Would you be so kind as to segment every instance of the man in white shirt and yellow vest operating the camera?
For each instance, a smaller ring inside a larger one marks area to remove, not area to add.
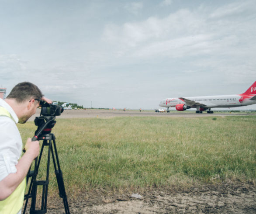
[[[5,100],[0,99],[0,214],[21,213],[26,175],[39,155],[39,142],[28,138],[21,157],[22,140],[16,124],[24,124],[39,107],[51,103],[32,83],[17,84]]]

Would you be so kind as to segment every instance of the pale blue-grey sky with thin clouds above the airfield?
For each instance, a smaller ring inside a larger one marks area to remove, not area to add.
[[[128,109],[239,94],[256,81],[255,26],[255,0],[0,0],[0,87]]]

